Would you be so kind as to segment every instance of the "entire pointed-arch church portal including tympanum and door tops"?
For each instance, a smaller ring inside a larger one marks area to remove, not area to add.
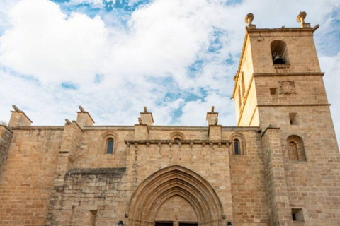
[[[220,198],[203,177],[179,165],[160,169],[132,195],[131,226],[222,226]]]

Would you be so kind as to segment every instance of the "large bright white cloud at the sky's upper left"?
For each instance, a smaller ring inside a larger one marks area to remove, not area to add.
[[[0,37],[2,66],[42,83],[94,79],[108,33],[101,18],[80,13],[67,18],[46,0],[20,1],[9,15],[13,28]]]

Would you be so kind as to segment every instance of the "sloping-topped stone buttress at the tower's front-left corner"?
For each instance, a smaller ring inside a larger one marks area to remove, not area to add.
[[[271,225],[292,225],[279,129],[268,127],[263,132],[262,145]]]

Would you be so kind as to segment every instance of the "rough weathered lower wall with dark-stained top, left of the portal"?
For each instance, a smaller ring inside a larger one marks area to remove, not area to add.
[[[51,203],[61,205],[62,213],[51,225],[116,225],[125,210],[125,191],[119,186],[124,173],[125,168],[67,172],[62,199]]]

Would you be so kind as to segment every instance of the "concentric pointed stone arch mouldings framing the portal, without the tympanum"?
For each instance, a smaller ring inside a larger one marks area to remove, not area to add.
[[[199,174],[179,165],[160,169],[137,187],[126,211],[129,225],[153,226],[159,208],[174,196],[190,203],[199,225],[222,225],[225,215],[215,189]]]

